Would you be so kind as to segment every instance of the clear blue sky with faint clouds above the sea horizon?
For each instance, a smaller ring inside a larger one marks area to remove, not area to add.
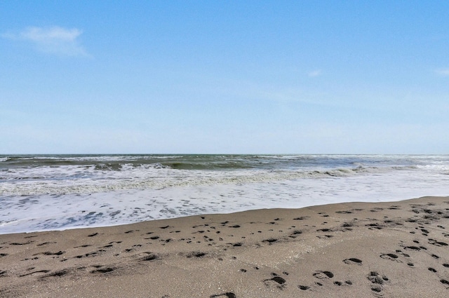
[[[0,154],[448,154],[448,13],[1,1]]]

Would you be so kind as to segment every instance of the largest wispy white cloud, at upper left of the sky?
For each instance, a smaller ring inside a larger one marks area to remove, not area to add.
[[[37,50],[55,55],[91,57],[79,42],[83,32],[79,29],[62,27],[27,27],[18,33],[8,32],[5,38],[27,41]]]

